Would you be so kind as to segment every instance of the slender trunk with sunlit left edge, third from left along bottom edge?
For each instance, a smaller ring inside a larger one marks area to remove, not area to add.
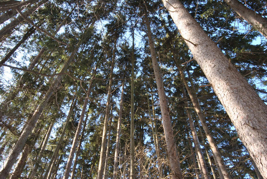
[[[55,120],[53,120],[48,128],[48,131],[46,133],[46,136],[45,136],[45,139],[42,143],[42,146],[41,146],[41,150],[40,150],[40,153],[39,155],[37,156],[37,159],[36,159],[36,164],[34,165],[34,168],[33,170],[31,171],[31,175],[30,175],[30,179],[33,179],[36,175],[36,172],[37,172],[37,169],[38,169],[38,166],[39,164],[41,163],[41,159],[42,159],[42,155],[45,151],[45,148],[46,148],[46,145],[47,145],[47,142],[48,142],[48,139],[50,137],[50,134],[51,134],[51,131],[53,129],[53,126],[54,126],[54,123],[55,123]]]

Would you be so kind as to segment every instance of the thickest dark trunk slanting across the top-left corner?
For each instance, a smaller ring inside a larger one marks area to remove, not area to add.
[[[31,13],[33,13],[34,11],[36,11],[39,6],[41,6],[42,4],[46,3],[48,0],[42,0],[39,3],[37,3],[36,5],[34,5],[33,7],[29,7],[24,13],[23,15],[28,17],[29,15],[31,15]],[[0,30],[0,42],[3,41],[3,39],[5,39],[4,36],[9,36],[12,31],[14,30],[14,28],[21,23],[22,21],[24,21],[24,19],[21,16],[18,16],[15,20],[12,20],[9,24],[7,24],[6,26],[4,26],[1,30]]]

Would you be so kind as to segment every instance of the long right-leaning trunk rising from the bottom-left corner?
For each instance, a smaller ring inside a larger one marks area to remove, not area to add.
[[[75,56],[76,52],[78,51],[78,49],[79,49],[81,44],[82,44],[82,39],[80,39],[80,41],[78,42],[77,46],[74,48],[73,52],[71,53],[71,55],[69,56],[67,61],[64,63],[64,65],[63,65],[63,67],[62,67],[62,69],[60,70],[59,73],[66,72],[69,64],[73,60],[73,58],[74,58],[74,56]],[[39,116],[43,112],[48,100],[50,99],[50,97],[54,93],[55,89],[57,89],[58,84],[61,81],[63,76],[64,75],[58,75],[55,78],[55,80],[53,81],[52,85],[48,89],[47,93],[45,94],[45,96],[40,101],[40,104],[36,108],[33,116],[25,124],[24,129],[23,129],[20,137],[18,138],[18,141],[16,142],[16,144],[14,145],[12,150],[10,151],[9,156],[7,157],[6,161],[4,162],[3,167],[0,170],[0,179],[5,179],[7,177],[8,173],[10,172],[13,164],[15,163],[15,160],[17,159],[20,151],[23,149],[28,136],[30,135],[32,129],[34,128],[35,123],[37,122]]]

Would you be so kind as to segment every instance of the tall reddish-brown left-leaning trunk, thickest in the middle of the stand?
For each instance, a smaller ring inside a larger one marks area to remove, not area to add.
[[[150,22],[148,21],[147,15],[145,15],[144,17],[145,17],[145,23],[147,26],[147,36],[149,39],[152,64],[153,64],[154,74],[155,74],[156,83],[158,87],[158,96],[160,100],[160,111],[161,111],[161,117],[162,117],[162,122],[163,122],[163,129],[164,129],[164,134],[165,134],[169,162],[171,166],[172,178],[182,179],[180,161],[177,155],[176,145],[174,142],[173,131],[171,127],[169,107],[167,105],[166,94],[164,92],[164,87],[163,87],[163,81],[162,81],[161,74],[160,74],[159,67],[158,67],[158,61],[157,61],[157,56],[155,52],[155,45],[154,45],[154,41],[152,38],[151,29],[150,29]]]

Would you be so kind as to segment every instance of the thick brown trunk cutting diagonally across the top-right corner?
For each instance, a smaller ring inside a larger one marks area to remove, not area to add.
[[[254,10],[247,8],[238,0],[224,0],[238,15],[250,23],[265,38],[267,38],[267,20]]]

